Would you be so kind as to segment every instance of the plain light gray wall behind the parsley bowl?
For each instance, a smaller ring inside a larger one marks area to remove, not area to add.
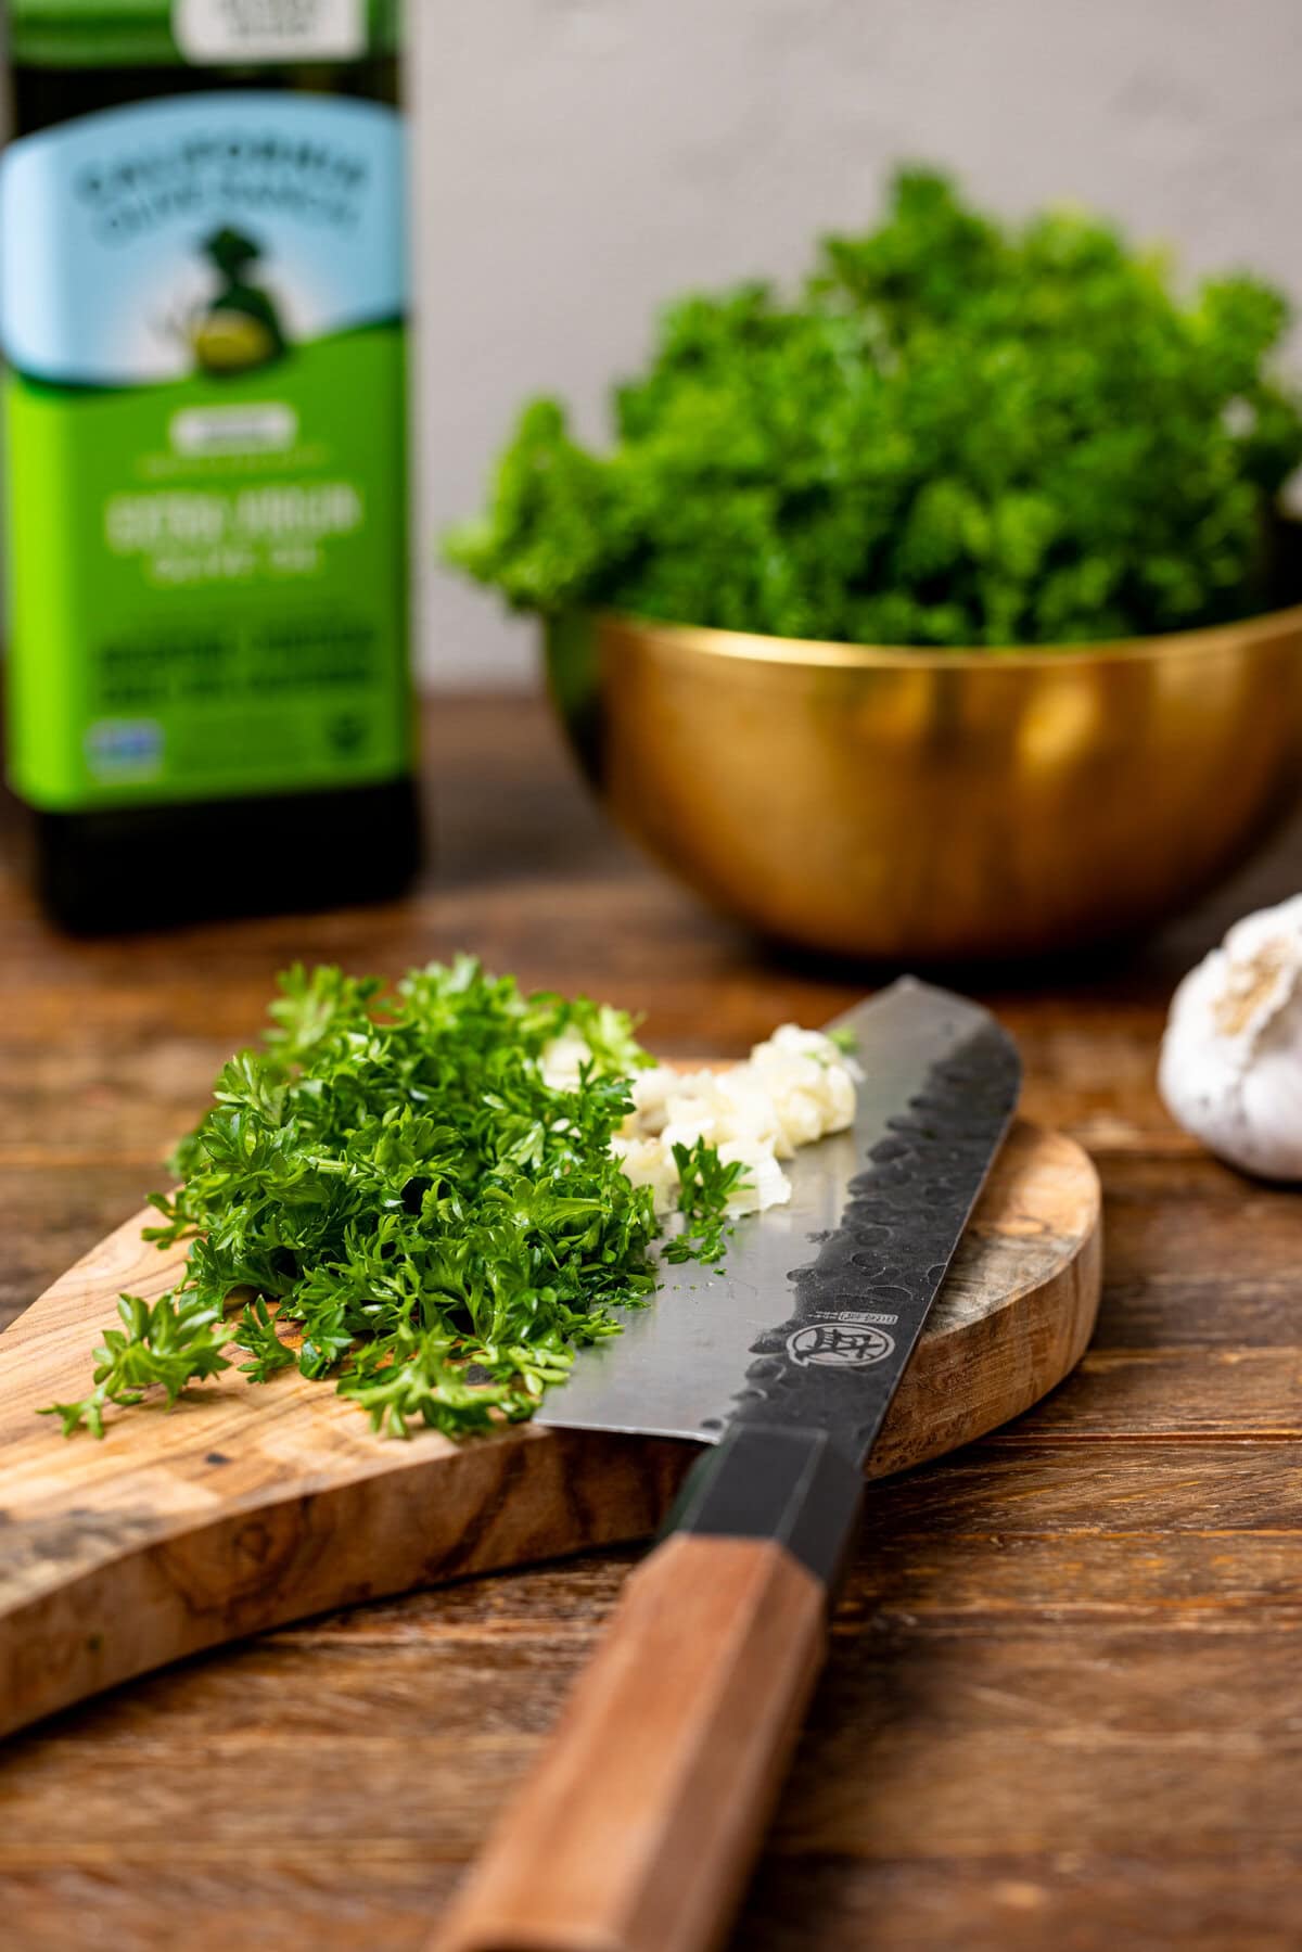
[[[410,0],[424,670],[513,683],[533,630],[433,566],[519,400],[588,437],[656,303],[791,275],[896,158],[1074,199],[1302,301],[1302,0]]]

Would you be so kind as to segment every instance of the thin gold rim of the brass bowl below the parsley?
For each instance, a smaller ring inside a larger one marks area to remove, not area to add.
[[[929,644],[839,644],[800,636],[763,636],[752,630],[718,630],[711,625],[660,623],[623,611],[595,611],[595,623],[634,636],[650,636],[668,648],[699,652],[707,658],[736,658],[750,664],[793,664],[826,670],[1009,670],[1019,666],[1138,664],[1152,658],[1206,656],[1220,650],[1269,644],[1302,634],[1302,603],[1288,609],[1257,611],[1238,623],[1204,625],[1199,630],[1163,630],[1152,636],[1113,638],[1097,644],[1009,644],[956,646]]]

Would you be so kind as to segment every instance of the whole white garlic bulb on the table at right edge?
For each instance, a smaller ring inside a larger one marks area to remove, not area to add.
[[[1222,1159],[1302,1179],[1302,894],[1245,915],[1185,976],[1158,1085]]]

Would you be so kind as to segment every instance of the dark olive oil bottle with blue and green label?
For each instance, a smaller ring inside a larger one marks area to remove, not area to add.
[[[396,892],[396,0],[10,0],[8,771],[66,927]]]

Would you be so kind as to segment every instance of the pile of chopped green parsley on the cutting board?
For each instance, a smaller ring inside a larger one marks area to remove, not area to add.
[[[531,1415],[576,1349],[617,1335],[656,1288],[652,1195],[609,1150],[650,1062],[631,1019],[525,996],[468,956],[396,992],[293,968],[271,1019],[180,1146],[180,1189],[152,1197],[146,1238],[189,1243],[182,1282],[152,1304],[125,1296],[90,1394],[45,1413],[100,1437],[109,1403],[160,1384],[172,1405],[234,1343],[250,1380],[297,1362],[396,1437]],[[574,1089],[539,1062],[564,1033],[593,1052]],[[679,1163],[668,1251],[712,1261],[742,1169],[703,1142]]]

